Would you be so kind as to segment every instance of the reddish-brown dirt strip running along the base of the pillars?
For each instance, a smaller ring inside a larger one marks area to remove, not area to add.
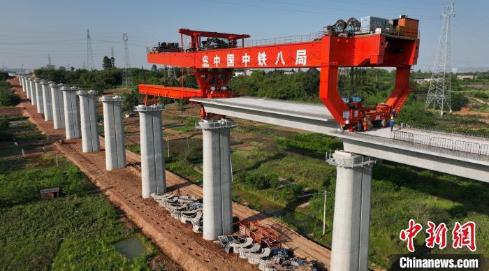
[[[173,219],[170,213],[152,199],[143,199],[141,195],[140,156],[126,150],[129,166],[121,170],[105,170],[105,152],[83,153],[81,139],[58,140],[65,138],[64,129],[54,129],[52,122],[44,121],[36,112],[36,106],[30,105],[25,93],[18,87],[17,79],[11,80],[15,92],[22,98],[18,107],[24,108],[23,115],[38,126],[54,147],[57,147],[70,161],[82,170],[98,189],[101,189],[110,202],[119,207],[133,221],[141,232],[149,237],[159,249],[186,270],[258,270],[256,265],[239,258],[236,254],[226,254],[214,242],[203,240],[199,233],[191,230],[191,225],[182,224]],[[101,147],[104,147],[101,137]],[[173,173],[166,171],[168,191],[189,194],[203,198],[202,187],[191,184]],[[307,258],[316,263],[321,270],[329,268],[330,250],[286,228],[272,217],[233,203],[233,215],[240,220],[260,221],[272,225],[282,238],[282,247],[292,249],[295,256]]]

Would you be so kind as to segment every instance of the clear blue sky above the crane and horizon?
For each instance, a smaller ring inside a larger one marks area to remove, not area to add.
[[[129,36],[131,66],[146,63],[146,46],[180,42],[179,28],[250,34],[251,39],[295,36],[320,31],[337,19],[365,15],[394,18],[407,14],[420,20],[418,65],[431,69],[441,31],[439,0],[2,0],[0,65],[37,68],[48,63],[81,68],[87,56],[87,29],[94,62],[101,68],[114,47],[116,66],[123,65],[122,33]],[[455,3],[452,20],[452,66],[489,69],[489,1]]]

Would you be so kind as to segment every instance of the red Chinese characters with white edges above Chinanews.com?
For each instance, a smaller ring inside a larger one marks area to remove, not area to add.
[[[423,226],[414,221],[414,219],[409,220],[409,228],[401,230],[399,237],[400,240],[407,242],[407,249],[414,252],[414,237],[423,230]],[[436,245],[439,249],[444,249],[446,247],[446,232],[448,228],[444,223],[440,223],[438,226],[432,221],[428,221],[428,228],[426,233],[428,233],[428,238],[425,239],[426,247],[434,248]],[[467,247],[470,251],[476,251],[476,224],[472,221],[460,225],[460,223],[455,222],[452,230],[452,247],[454,249],[460,249],[462,247]]]

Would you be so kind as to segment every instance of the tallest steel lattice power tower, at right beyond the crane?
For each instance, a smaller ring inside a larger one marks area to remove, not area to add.
[[[451,65],[450,65],[450,18],[455,16],[455,3],[444,3],[441,19],[443,27],[438,43],[437,57],[430,80],[430,89],[426,98],[425,107],[433,105],[443,116],[445,106],[452,112],[451,106]]]

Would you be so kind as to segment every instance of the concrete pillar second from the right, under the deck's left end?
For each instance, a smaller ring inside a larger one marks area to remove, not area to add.
[[[203,135],[203,236],[216,240],[233,231],[231,207],[231,150],[229,130],[233,121],[203,119],[198,123]]]

